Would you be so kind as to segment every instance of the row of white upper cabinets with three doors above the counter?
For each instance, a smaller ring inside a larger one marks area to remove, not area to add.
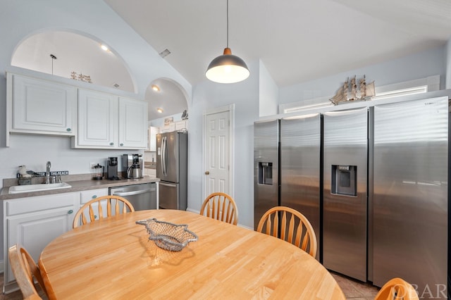
[[[7,73],[6,146],[10,133],[71,136],[73,148],[148,149],[147,101]]]

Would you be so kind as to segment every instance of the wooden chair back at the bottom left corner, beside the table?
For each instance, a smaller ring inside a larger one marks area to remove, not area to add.
[[[23,294],[23,298],[42,299],[35,288],[33,277],[36,278],[39,286],[48,296],[47,287],[44,285],[42,275],[30,254],[24,248],[16,244],[8,249],[8,256],[11,263],[11,270],[13,270],[14,277],[16,277],[16,282],[18,283],[20,292]]]

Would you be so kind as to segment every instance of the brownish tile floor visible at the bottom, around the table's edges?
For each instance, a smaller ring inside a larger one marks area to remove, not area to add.
[[[374,296],[379,291],[378,287],[373,287],[364,282],[359,282],[357,280],[353,280],[344,275],[340,275],[338,273],[330,272],[335,280],[340,285],[343,293],[346,296],[346,299],[352,300],[373,300]],[[0,287],[3,287],[3,273],[0,273]],[[39,294],[42,295],[42,292]],[[23,299],[20,291],[13,292],[7,295],[0,294],[0,300],[21,300]]]

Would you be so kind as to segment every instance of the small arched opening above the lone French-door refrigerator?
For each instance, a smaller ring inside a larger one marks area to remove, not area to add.
[[[188,111],[187,92],[171,78],[160,77],[150,82],[144,97],[149,102],[149,120],[166,118]],[[159,108],[162,110],[161,113],[157,111]]]

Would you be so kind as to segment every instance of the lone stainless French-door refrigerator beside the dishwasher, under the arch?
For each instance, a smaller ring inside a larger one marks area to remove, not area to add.
[[[159,182],[159,208],[187,208],[187,132],[156,135],[156,177]]]

